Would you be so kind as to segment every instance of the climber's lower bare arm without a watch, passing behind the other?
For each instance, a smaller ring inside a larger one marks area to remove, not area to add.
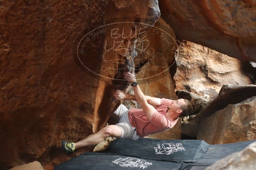
[[[136,100],[135,95],[129,95],[124,93],[122,90],[116,90],[113,94],[113,96],[117,99],[117,100]],[[151,96],[145,96],[147,103],[154,105],[154,106],[160,106],[161,103],[161,99],[157,98],[157,97],[151,97]]]

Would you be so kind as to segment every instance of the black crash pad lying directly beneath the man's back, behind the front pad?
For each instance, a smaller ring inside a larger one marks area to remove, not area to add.
[[[155,160],[195,162],[210,147],[203,140],[116,139],[106,151]]]

